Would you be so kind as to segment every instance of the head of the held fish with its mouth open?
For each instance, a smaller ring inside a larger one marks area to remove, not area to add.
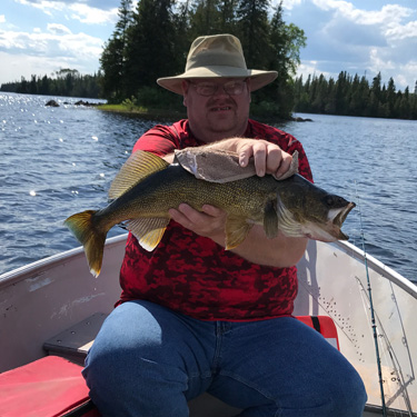
[[[297,181],[292,181],[287,192],[278,195],[278,208],[287,235],[321,241],[347,240],[349,237],[341,231],[341,226],[356,207],[355,202],[296,177]]]

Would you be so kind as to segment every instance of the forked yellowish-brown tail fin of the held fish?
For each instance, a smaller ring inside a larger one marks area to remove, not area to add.
[[[63,224],[83,246],[90,272],[97,278],[101,270],[108,229],[95,222],[95,210],[86,210],[70,216]]]

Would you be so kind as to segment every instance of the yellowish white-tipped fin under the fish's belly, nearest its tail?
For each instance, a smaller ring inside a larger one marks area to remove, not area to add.
[[[161,241],[168,224],[168,218],[155,217],[128,220],[126,226],[127,229],[138,239],[139,245],[143,249],[152,251]]]

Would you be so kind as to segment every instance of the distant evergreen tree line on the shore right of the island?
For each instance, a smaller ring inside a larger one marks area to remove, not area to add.
[[[408,87],[397,91],[393,78],[387,86],[381,83],[380,72],[371,83],[346,71],[337,80],[320,75],[304,81],[301,76],[295,80],[294,95],[294,109],[299,112],[417,119],[417,81],[413,92]]]

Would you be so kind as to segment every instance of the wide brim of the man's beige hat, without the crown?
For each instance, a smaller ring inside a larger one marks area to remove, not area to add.
[[[169,91],[182,96],[182,81],[192,78],[250,78],[250,91],[259,90],[260,88],[272,82],[277,77],[277,71],[261,71],[261,70],[246,70],[236,67],[214,66],[199,67],[191,69],[176,77],[158,78],[159,86]]]

